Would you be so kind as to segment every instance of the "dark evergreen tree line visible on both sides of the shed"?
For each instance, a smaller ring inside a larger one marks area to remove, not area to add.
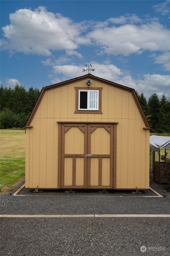
[[[39,97],[40,90],[16,84],[14,89],[0,87],[0,129],[23,127]],[[170,99],[153,93],[147,100],[136,92],[153,132],[170,133]]]

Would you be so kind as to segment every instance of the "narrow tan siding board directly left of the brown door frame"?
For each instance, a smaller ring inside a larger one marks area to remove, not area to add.
[[[58,187],[58,124],[53,123],[53,188]]]

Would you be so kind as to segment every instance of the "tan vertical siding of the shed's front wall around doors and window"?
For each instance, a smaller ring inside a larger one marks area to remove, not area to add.
[[[116,186],[117,188],[147,188],[149,186],[149,148],[147,146],[149,145],[149,130],[142,129],[145,124],[131,92],[95,80],[92,80],[92,86],[103,87],[103,114],[74,113],[74,87],[87,87],[85,80],[45,91],[32,124],[30,124],[33,128],[27,128],[29,132],[27,131],[26,134],[26,186],[57,188],[57,121],[119,122],[117,124]],[[66,164],[69,165],[70,161],[72,159],[67,158]],[[98,159],[92,160],[92,165],[97,166]],[[102,166],[105,165],[108,165],[106,159],[102,160]],[[76,159],[76,171],[78,166],[83,166],[82,159]],[[72,164],[70,168],[72,169]],[[69,185],[69,175],[66,174],[64,181],[67,185]],[[76,183],[83,184],[82,175],[76,175]],[[107,185],[108,177],[109,173],[102,184]],[[91,185],[96,185],[98,174],[92,172],[91,179],[93,181]]]

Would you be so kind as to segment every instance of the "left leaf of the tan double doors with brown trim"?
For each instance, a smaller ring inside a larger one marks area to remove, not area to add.
[[[61,188],[87,187],[87,125],[62,124]]]

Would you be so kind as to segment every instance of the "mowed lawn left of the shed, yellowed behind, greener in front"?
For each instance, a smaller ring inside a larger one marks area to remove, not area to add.
[[[0,130],[1,190],[25,176],[25,130]]]

